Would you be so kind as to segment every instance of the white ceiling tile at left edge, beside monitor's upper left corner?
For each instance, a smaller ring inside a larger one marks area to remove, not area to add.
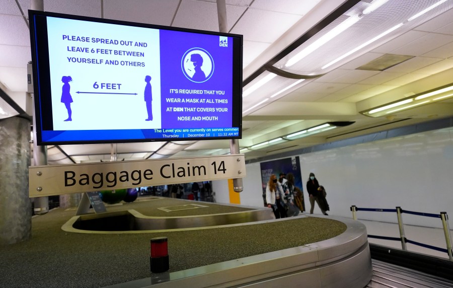
[[[30,46],[30,30],[22,16],[0,15],[0,44]]]

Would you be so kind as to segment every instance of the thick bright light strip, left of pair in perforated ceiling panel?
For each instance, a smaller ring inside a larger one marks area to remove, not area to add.
[[[348,19],[345,21],[341,22],[339,25],[335,26],[332,30],[324,34],[322,37],[320,37],[318,40],[307,46],[305,49],[300,51],[299,53],[295,54],[293,57],[291,57],[288,62],[286,62],[285,66],[289,67],[300,61],[301,59],[305,58],[307,55],[321,47],[322,45],[326,44],[336,36],[338,36],[341,32],[344,30],[348,29],[357,21],[359,21],[360,18],[357,16],[350,16]]]

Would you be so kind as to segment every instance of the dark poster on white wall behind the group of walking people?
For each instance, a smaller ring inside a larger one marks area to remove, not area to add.
[[[260,163],[261,168],[261,185],[263,189],[263,201],[266,206],[266,187],[269,182],[269,177],[272,174],[275,174],[277,179],[279,178],[280,173],[288,174],[292,173],[294,175],[294,186],[300,189],[301,199],[300,206],[302,211],[305,210],[304,204],[304,185],[302,183],[302,177],[300,172],[300,162],[299,157],[294,156],[290,158],[283,158],[278,160],[272,160],[267,162]],[[297,201],[296,201],[297,204]]]

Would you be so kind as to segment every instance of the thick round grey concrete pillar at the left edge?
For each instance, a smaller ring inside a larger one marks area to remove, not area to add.
[[[31,237],[29,140],[29,120],[20,117],[0,120],[0,245]]]

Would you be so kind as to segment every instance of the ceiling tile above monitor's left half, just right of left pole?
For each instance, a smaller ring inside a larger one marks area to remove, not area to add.
[[[44,11],[101,18],[101,2],[98,0],[44,0]]]

